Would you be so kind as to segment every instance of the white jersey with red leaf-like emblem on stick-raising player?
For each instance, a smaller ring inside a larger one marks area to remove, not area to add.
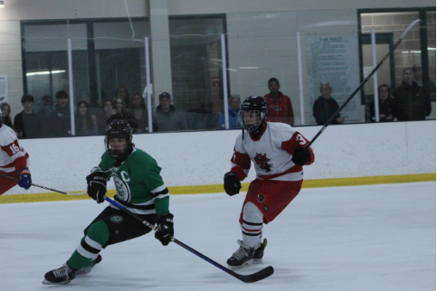
[[[302,166],[294,164],[291,157],[294,149],[304,147],[309,141],[290,125],[279,122],[266,122],[261,135],[255,139],[250,132],[237,136],[231,164],[232,172],[242,181],[254,164],[256,176],[262,180],[299,181],[303,179]],[[309,148],[311,160],[314,162],[314,153]]]

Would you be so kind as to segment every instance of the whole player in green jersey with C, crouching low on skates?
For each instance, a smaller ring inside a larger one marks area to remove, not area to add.
[[[173,214],[168,210],[170,194],[157,161],[135,148],[128,121],[109,124],[105,137],[106,152],[98,167],[87,176],[88,194],[98,203],[105,201],[106,183],[113,178],[114,199],[142,220],[157,224],[155,237],[166,246],[174,235]],[[115,206],[108,206],[84,230],[84,237],[61,268],[44,276],[43,284],[68,284],[76,276],[90,273],[101,260],[100,251],[107,246],[138,238],[151,229]]]

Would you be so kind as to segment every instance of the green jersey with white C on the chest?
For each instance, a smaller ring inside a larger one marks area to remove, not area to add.
[[[108,152],[101,156],[99,167],[91,172],[108,172],[117,190],[114,199],[136,214],[169,212],[170,193],[166,188],[157,161],[146,152],[133,148],[132,153],[119,166]],[[115,207],[112,206],[111,207]]]

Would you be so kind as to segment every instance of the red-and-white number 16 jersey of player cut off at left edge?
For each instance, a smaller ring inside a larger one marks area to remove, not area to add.
[[[11,173],[27,167],[29,155],[18,144],[18,139],[11,127],[0,127],[0,172]]]

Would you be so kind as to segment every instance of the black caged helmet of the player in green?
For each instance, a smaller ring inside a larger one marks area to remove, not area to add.
[[[110,148],[109,139],[111,138],[126,138],[126,149],[123,152],[114,151]],[[116,160],[125,159],[131,152],[132,147],[132,128],[127,120],[125,119],[116,119],[113,120],[108,128],[106,129],[105,135],[105,149],[108,151],[109,155],[111,155]]]

